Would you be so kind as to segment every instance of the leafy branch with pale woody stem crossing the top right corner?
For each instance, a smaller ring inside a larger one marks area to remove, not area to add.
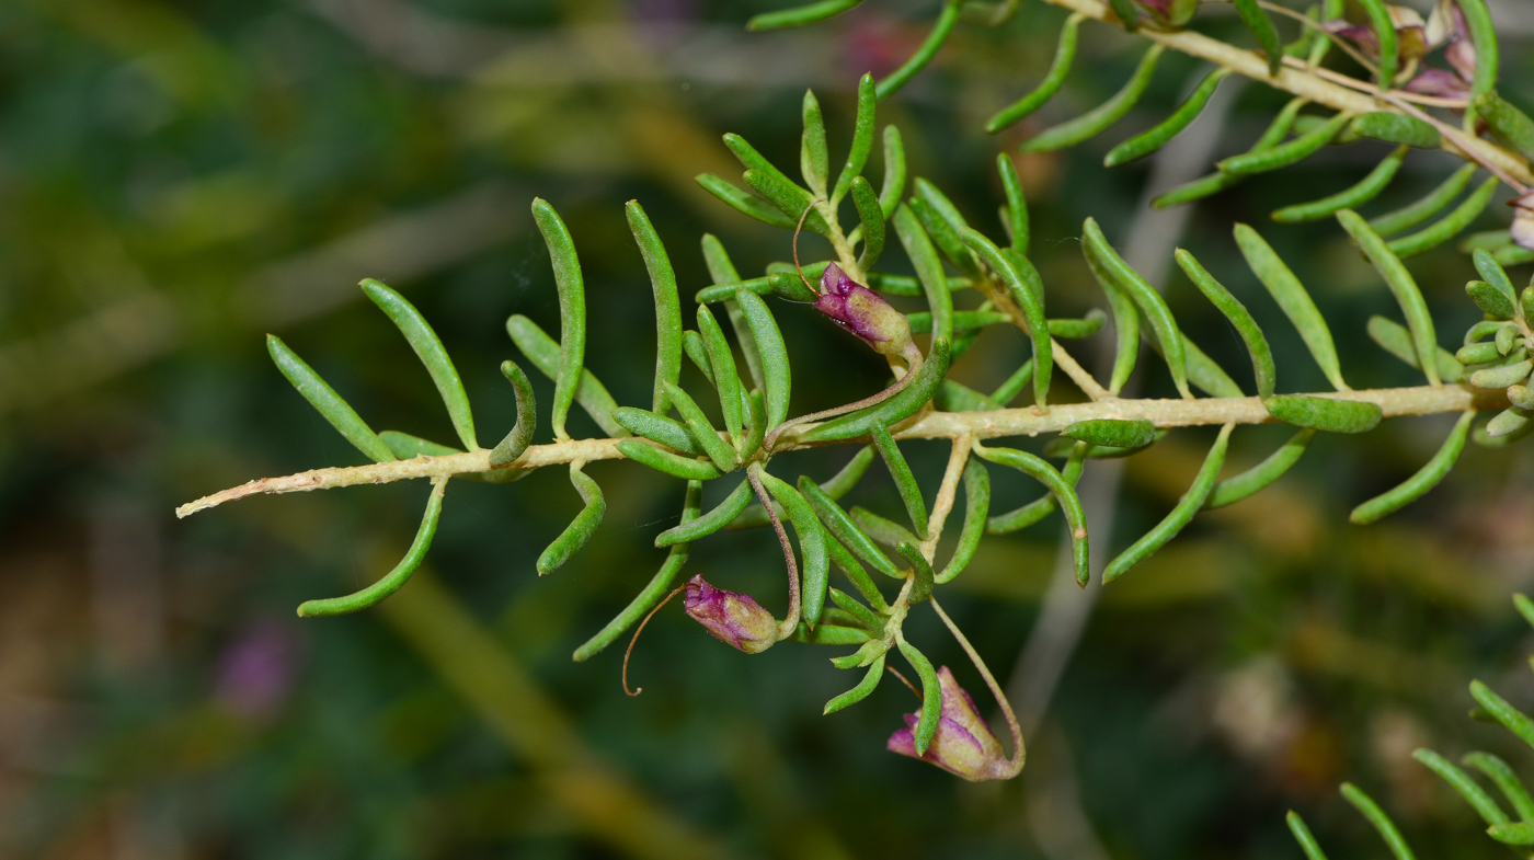
[[[1206,5],[1201,0],[1045,2],[1071,11],[1060,29],[1054,63],[1035,89],[986,123],[991,133],[1032,115],[1060,90],[1071,72],[1085,21],[1121,26],[1149,40],[1150,46],[1114,97],[1039,132],[1022,144],[1022,152],[1077,146],[1108,132],[1144,95],[1164,52],[1178,51],[1209,63],[1195,72],[1201,81],[1190,87],[1186,101],[1166,120],[1117,144],[1104,158],[1104,167],[1144,158],[1170,143],[1198,118],[1220,81],[1232,74],[1295,98],[1250,150],[1220,161],[1215,173],[1163,193],[1152,205],[1203,199],[1258,173],[1298,164],[1327,144],[1370,138],[1397,144],[1397,149],[1358,184],[1282,207],[1273,213],[1275,221],[1315,221],[1344,208],[1359,208],[1385,190],[1410,149],[1442,149],[1463,158],[1467,172],[1456,173],[1442,189],[1411,207],[1374,219],[1381,235],[1399,233],[1391,239],[1391,250],[1407,258],[1453,241],[1485,212],[1497,187],[1505,184],[1526,201],[1514,201],[1519,208],[1511,228],[1477,233],[1462,244],[1462,250],[1468,253],[1483,247],[1503,265],[1534,262],[1534,202],[1529,202],[1534,201],[1529,196],[1534,185],[1529,169],[1534,120],[1496,92],[1500,51],[1485,0],[1439,0],[1427,18],[1384,0],[1359,0],[1365,12],[1362,23],[1344,18],[1342,0],[1325,0],[1312,12],[1279,0],[1233,0],[1256,43],[1255,49],[1198,32],[1198,11]],[[928,43],[946,40],[959,17],[982,26],[1005,21],[1016,12],[1017,3],[966,3],[963,8],[971,14],[960,15],[954,3],[945,5]],[[819,20],[808,14],[810,9],[801,9],[799,15],[775,14],[775,26]],[[1282,40],[1279,25],[1292,37],[1290,41]],[[761,29],[756,21],[753,26]],[[1333,52],[1333,48],[1338,51]],[[879,95],[908,81],[933,54],[923,44],[899,72],[881,81]],[[1328,66],[1328,58],[1342,60]],[[1322,112],[1304,113],[1307,107]],[[1490,176],[1462,198],[1477,170]],[[1433,222],[1408,233],[1428,221]]]

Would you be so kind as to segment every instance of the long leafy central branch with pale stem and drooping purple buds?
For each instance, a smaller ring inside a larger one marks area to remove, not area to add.
[[[1467,440],[1503,446],[1534,432],[1534,422],[1528,422],[1534,403],[1526,385],[1534,350],[1529,325],[1534,287],[1516,291],[1494,254],[1476,254],[1482,277],[1467,293],[1488,319],[1471,328],[1467,346],[1456,357],[1439,345],[1436,323],[1401,254],[1361,216],[1347,208],[1338,212],[1341,225],[1379,273],[1381,300],[1397,308],[1393,316],[1399,322],[1376,317],[1368,334],[1424,374],[1420,386],[1362,391],[1347,383],[1330,327],[1309,291],[1256,230],[1238,225],[1233,241],[1266,296],[1238,299],[1192,254],[1178,251],[1183,271],[1247,348],[1255,391],[1249,396],[1236,377],[1200,350],[1161,294],[1124,262],[1092,219],[1083,224],[1081,247],[1103,288],[1108,313],[1051,319],[1048,290],[1028,256],[1028,204],[1008,156],[997,162],[1005,207],[1000,230],[992,235],[1000,241],[971,224],[931,182],[920,178],[907,182],[900,135],[893,127],[882,132],[884,178],[882,189],[874,192],[862,175],[874,138],[874,95],[873,80],[865,77],[850,155],[834,181],[813,94],[804,101],[802,184],[735,135],[726,136],[726,146],[741,159],[742,179],[755,193],[718,176],[698,179],[752,218],[785,230],[802,222],[805,230],[822,236],[828,258],[804,267],[805,274],[819,279],[818,290],[801,282],[796,267],[787,262],[769,264],[762,276],[742,277],[723,244],[704,236],[703,254],[715,284],[695,293],[695,323],[687,328],[669,251],[643,207],[627,204],[657,314],[655,379],[647,403],[618,405],[588,366],[584,279],[575,241],[554,207],[540,199],[532,210],[555,274],[560,337],[520,314],[506,322],[506,331],[526,360],[554,380],[546,431],[551,440],[534,443],[540,422],[531,386],[520,366],[506,362],[502,369],[517,400],[517,422],[499,445],[480,446],[468,397],[442,342],[402,296],[367,281],[364,290],[426,365],[462,448],[396,431],[376,434],[341,394],[273,337],[270,348],[279,369],[373,461],[262,478],[186,504],[178,514],[259,492],[431,480],[428,512],[407,558],[380,584],[353,598],[321,601],[318,606],[325,612],[305,612],[330,615],[365,609],[405,583],[426,553],[449,478],[512,481],[545,466],[569,471],[581,507],[538,556],[537,572],[543,575],[566,566],[600,530],[606,501],[597,477],[588,472],[603,460],[632,460],[683,481],[681,523],[655,538],[669,552],[650,583],[575,652],[577,661],[595,656],[641,624],[667,595],[686,592],[686,613],[713,638],[744,653],[759,653],[782,641],[842,648],[831,664],[862,668],[864,678],[827,702],[827,713],[865,699],[893,671],[888,662],[904,659],[920,681],[922,704],[914,722],[908,720],[891,740],[897,751],[965,779],[1005,779],[1022,768],[1022,733],[994,676],[943,613],[936,592],[963,573],[986,535],[1026,529],[1057,510],[1069,526],[1077,576],[1085,586],[1089,553],[1100,547],[1088,535],[1075,483],[1085,469],[1095,468],[1095,460],[1149,451],[1178,428],[1218,428],[1181,501],[1111,560],[1104,573],[1111,583],[1172,541],[1201,510],[1233,504],[1279,480],[1319,432],[1361,434],[1396,415],[1460,415],[1443,448],[1417,475],[1355,510],[1359,523],[1427,494],[1448,474]],[[850,207],[839,205],[848,201]],[[858,219],[851,228],[842,222],[844,208]],[[877,268],[888,231],[899,241],[914,276]],[[1282,389],[1267,336],[1244,304],[1252,300],[1273,300],[1284,311],[1333,391]],[[850,402],[833,409],[834,417],[793,417],[795,368],[776,314],[811,308],[827,317],[827,330],[836,327],[858,336],[870,346],[870,359],[888,360],[891,369],[908,373],[873,397],[848,392]],[[1117,356],[1109,379],[1100,382],[1081,368],[1065,342],[1106,336],[1109,320]],[[1026,340],[1031,357],[989,392],[948,379],[953,362],[986,336]],[[1154,373],[1164,373],[1177,397],[1118,397],[1135,371],[1141,337],[1158,356]],[[683,356],[698,371],[689,380],[681,376]],[[568,415],[575,406],[606,435],[574,437]],[[1473,422],[1480,411],[1494,417],[1477,428]],[[819,420],[824,417],[830,420]],[[1256,423],[1287,423],[1295,435],[1252,469],[1226,474],[1230,445],[1241,443],[1241,428]],[[1025,451],[1028,437],[1039,434],[1051,438],[1040,452]],[[1008,441],[999,443],[1002,438]],[[948,461],[936,487],[923,487],[914,477],[907,460],[911,440],[948,443]],[[795,451],[842,443],[851,443],[856,452],[838,474],[787,477]],[[894,480],[899,509],[870,510],[848,503],[874,460]],[[1016,510],[992,514],[992,480],[1012,480],[1014,474],[1037,483],[1042,495]],[[733,486],[712,509],[703,509],[704,484],[715,480]],[[784,555],[787,587],[781,613],[769,609],[772,583],[738,592],[698,573],[678,587],[696,541],[724,529],[767,526]],[[954,532],[957,540],[943,541]],[[945,556],[939,555],[940,546]],[[934,668],[907,638],[905,621],[911,612],[922,612],[923,604],[943,621],[1000,704],[1012,734],[1011,756],[1002,754],[1000,742],[953,676]],[[305,607],[314,610],[316,604]]]

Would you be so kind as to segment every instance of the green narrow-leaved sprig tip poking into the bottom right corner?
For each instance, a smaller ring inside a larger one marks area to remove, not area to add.
[[[1519,615],[1529,625],[1534,625],[1534,601],[1525,595],[1513,595],[1513,604]],[[1470,682],[1470,694],[1477,704],[1470,713],[1471,717],[1499,724],[1523,743],[1534,747],[1534,717],[1513,707],[1480,681]],[[1454,794],[1470,803],[1470,808],[1486,823],[1486,835],[1493,840],[1519,854],[1526,854],[1529,846],[1534,846],[1534,797],[1511,765],[1491,753],[1468,753],[1459,765],[1427,748],[1416,750],[1411,757],[1437,774],[1454,789]],[[1491,782],[1496,793],[1488,791],[1482,785],[1483,780]],[[1500,800],[1496,796],[1500,796]],[[1368,794],[1353,783],[1342,783],[1342,797],[1374,826],[1391,854],[1401,858],[1413,857],[1401,828]],[[1511,812],[1503,805],[1511,808]],[[1321,849],[1321,843],[1298,812],[1289,812],[1289,829],[1295,834],[1295,840],[1299,842],[1309,860],[1325,860],[1327,855]]]

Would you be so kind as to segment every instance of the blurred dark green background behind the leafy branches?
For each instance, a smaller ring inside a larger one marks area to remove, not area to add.
[[[1298,857],[1287,808],[1336,854],[1378,854],[1336,796],[1342,779],[1393,809],[1425,855],[1499,854],[1410,753],[1526,760],[1506,733],[1465,719],[1465,684],[1477,676],[1534,704],[1522,667],[1529,632],[1508,602],[1534,579],[1534,449],[1473,448],[1422,503],[1378,526],[1345,524],[1353,504],[1430,457],[1451,419],[1318,440],[1275,489],[1201,517],[1095,606],[1095,586],[1046,598],[1057,521],[989,538],[945,602],[1012,676],[1034,724],[1028,768],[1006,785],[966,785],[885,753],[913,707],[897,684],[819,716],[856,678],[810,645],[747,658],[667,612],[635,652],[644,696],[618,685],[621,648],[571,662],[649,579],[661,558],[653,533],[676,515],[680,483],[632,464],[591,469],[607,491],[606,523],[542,579],[532,561],[578,506],[565,477],[454,483],[430,572],[344,618],[301,622],[293,607],[385,570],[414,532],[423,486],[252,498],[173,518],[176,504],[224,486],[357,461],[272,368],[268,331],[374,428],[451,438],[426,374],[359,300],[364,276],[426,313],[482,435],[503,432],[514,417],[495,369],[514,356],[503,322],[525,313],[557,325],[532,196],[560,208],[581,253],[588,365],[620,402],[647,402],[650,297],[623,202],[646,205],[684,294],[707,284],[704,231],[749,274],[785,259],[785,233],[726,208],[692,176],[738,176],[723,132],[793,166],[807,86],[839,158],[858,75],[894,67],[936,5],[871,2],[807,31],[744,31],[775,6],[0,3],[0,855]],[[1528,9],[1503,3],[1497,15],[1503,94],[1534,104]],[[992,235],[994,153],[1095,104],[1138,54],[1088,25],[1065,94],[1026,129],[986,138],[985,117],[1048,66],[1063,17],[1025,3],[999,31],[960,28],[881,107],[881,123],[905,133],[913,175]],[[1210,18],[1216,29],[1230,20]],[[1244,44],[1235,26],[1229,34]],[[1207,172],[1281,104],[1227,81],[1161,156],[1101,170],[1106,147],[1155,123],[1198,72],[1169,57],[1150,98],[1103,141],[1019,161],[1055,313],[1101,305],[1075,239],[1094,215],[1232,376],[1244,379],[1239,342],[1166,274],[1177,244],[1249,299],[1284,389],[1322,388],[1239,267],[1229,227],[1247,221],[1310,285],[1350,382],[1411,385],[1364,336],[1391,300],[1341,231],[1266,225],[1272,208],[1355,181],[1382,144],[1336,147],[1152,213],[1147,187]],[[1413,155],[1370,213],[1453,167]],[[1486,225],[1505,222],[1503,207],[1493,210]],[[1468,261],[1443,248],[1413,268],[1451,343],[1477,319],[1460,290]],[[796,409],[882,383],[881,363],[850,337],[808,308],[778,307]],[[1085,342],[1089,363],[1106,339]],[[1022,339],[991,334],[954,376],[994,386],[1023,356]],[[546,403],[549,386],[537,383]],[[1141,385],[1169,391],[1155,373]],[[584,415],[572,429],[595,432]],[[1089,506],[1114,515],[1100,556],[1172,506],[1206,435],[1178,432],[1121,466],[1089,468]],[[1241,432],[1232,457],[1244,466],[1281,438]],[[945,451],[911,449],[933,481]],[[785,457],[782,474],[824,477],[848,454]],[[1002,475],[997,484],[997,507],[1037,492]],[[897,509],[879,469],[858,492]],[[689,572],[769,607],[781,599],[781,558],[764,532],[710,538]],[[910,630],[934,658],[963,662],[928,615]]]

